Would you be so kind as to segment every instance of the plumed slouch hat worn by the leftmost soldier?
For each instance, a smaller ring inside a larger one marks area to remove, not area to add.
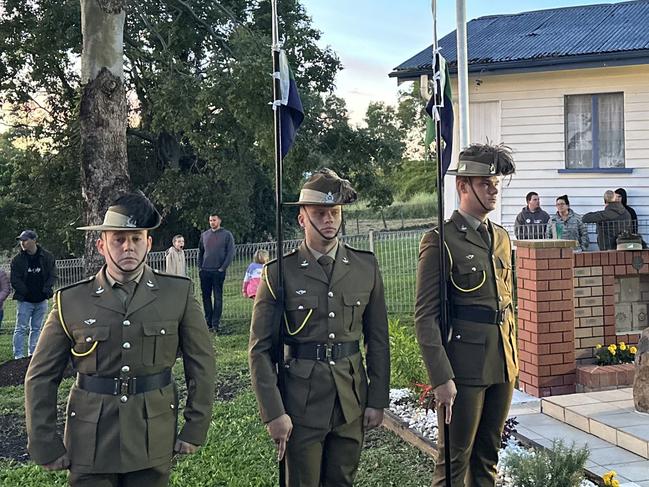
[[[77,227],[77,230],[153,230],[162,217],[141,191],[120,196],[108,207],[101,225]]]

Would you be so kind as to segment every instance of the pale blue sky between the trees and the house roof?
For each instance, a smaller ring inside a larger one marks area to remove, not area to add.
[[[548,8],[619,3],[602,0],[466,0],[466,19]],[[302,0],[321,45],[343,64],[336,93],[347,101],[352,123],[363,120],[370,101],[397,103],[393,68],[432,44],[430,0]],[[437,35],[455,30],[455,1],[437,1]]]

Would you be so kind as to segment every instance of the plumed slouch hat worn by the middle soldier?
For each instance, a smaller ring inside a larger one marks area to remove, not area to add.
[[[300,191],[298,201],[284,203],[289,206],[349,205],[356,201],[357,195],[349,181],[342,179],[328,168],[323,168],[311,175]]]

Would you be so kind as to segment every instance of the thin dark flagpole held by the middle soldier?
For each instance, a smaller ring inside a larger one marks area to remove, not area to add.
[[[280,86],[280,45],[277,21],[277,0],[271,0],[272,11],[272,54],[273,54],[273,123],[275,128],[275,234],[277,235],[277,294],[276,306],[284,306],[284,240],[282,238],[282,125],[280,110],[282,109],[282,90]],[[282,313],[276,313],[277,320],[277,347],[275,364],[277,367],[277,387],[280,396],[284,397],[284,327],[282,326]],[[279,487],[286,486],[286,453],[279,461]]]

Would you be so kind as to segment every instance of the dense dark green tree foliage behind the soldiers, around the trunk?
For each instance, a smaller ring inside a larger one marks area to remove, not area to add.
[[[370,201],[389,205],[403,122],[370,105],[367,127],[348,123],[333,96],[341,63],[299,0],[280,0],[280,32],[306,112],[284,165],[285,198],[321,166],[339,170]],[[127,2],[124,82],[133,186],[164,223],[154,249],[182,232],[195,246],[218,211],[238,241],[274,234],[270,2]],[[82,45],[78,0],[6,0],[0,19],[0,104],[23,145],[0,141],[0,245],[33,226],[57,257],[81,255],[78,102]],[[38,97],[34,98],[34,93]],[[45,145],[43,145],[45,144]],[[47,218],[44,218],[44,217]],[[291,220],[286,219],[290,224]]]

